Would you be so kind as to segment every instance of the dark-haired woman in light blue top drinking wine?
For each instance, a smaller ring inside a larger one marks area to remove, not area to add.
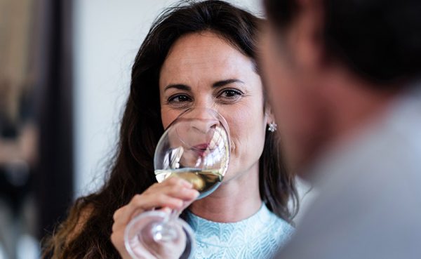
[[[130,258],[123,232],[131,218],[189,204],[182,217],[196,234],[196,258],[265,258],[288,239],[296,212],[288,201],[298,199],[255,65],[259,23],[223,1],[189,3],[161,14],[135,58],[107,183],[76,201],[46,255]],[[197,201],[198,193],[184,180],[156,183],[153,168],[163,129],[189,107],[218,110],[232,138],[222,185]]]

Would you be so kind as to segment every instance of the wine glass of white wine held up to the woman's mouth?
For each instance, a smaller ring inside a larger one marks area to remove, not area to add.
[[[154,155],[156,180],[178,177],[192,183],[198,199],[212,193],[227,172],[230,157],[227,121],[213,109],[192,107],[182,112],[161,136]],[[194,234],[180,211],[148,211],[126,227],[128,253],[140,258],[190,258]]]

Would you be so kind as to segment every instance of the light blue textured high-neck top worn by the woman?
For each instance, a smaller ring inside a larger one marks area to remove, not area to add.
[[[236,223],[216,223],[190,212],[187,223],[196,235],[195,259],[272,258],[294,230],[265,205]]]

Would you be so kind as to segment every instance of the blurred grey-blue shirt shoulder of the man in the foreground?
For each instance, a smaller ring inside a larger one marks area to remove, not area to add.
[[[316,168],[319,196],[278,258],[420,258],[421,99],[353,144]]]

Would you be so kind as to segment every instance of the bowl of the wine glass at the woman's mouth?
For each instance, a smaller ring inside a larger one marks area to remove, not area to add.
[[[222,182],[229,151],[227,121],[213,109],[187,109],[168,126],[156,146],[156,179],[183,178],[200,192],[201,199]]]

